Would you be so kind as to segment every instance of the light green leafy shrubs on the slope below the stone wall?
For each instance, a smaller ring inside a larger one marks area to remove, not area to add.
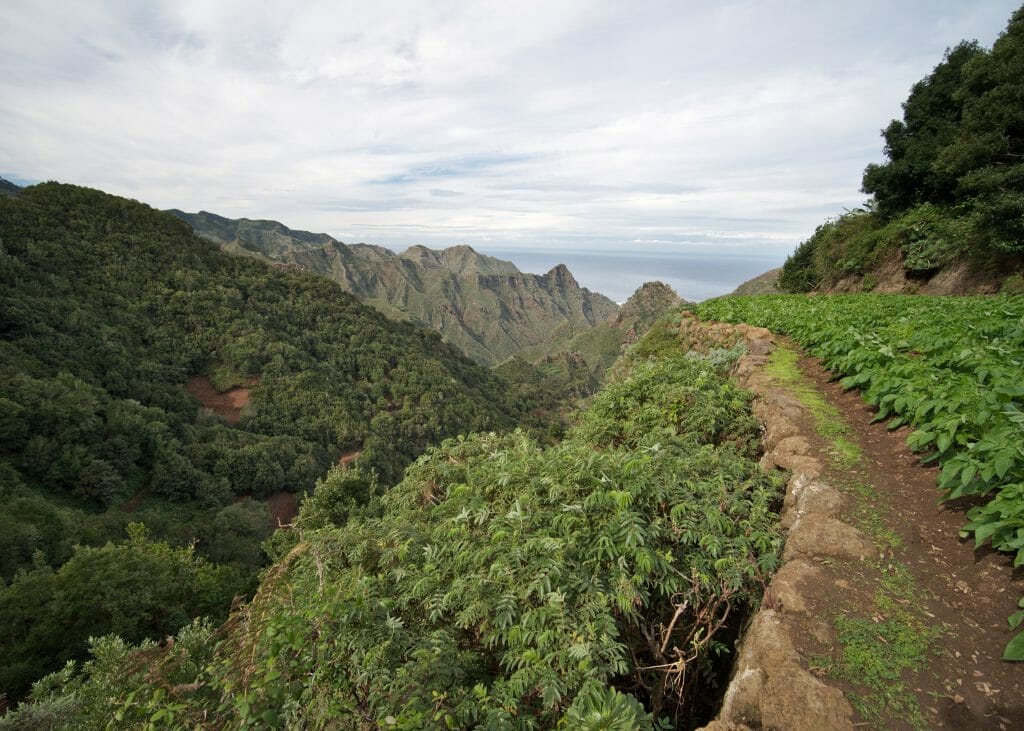
[[[678,320],[654,332],[557,445],[461,436],[379,497],[336,469],[220,634],[97,640],[83,673],[47,678],[9,723],[89,728],[111,708],[126,726],[699,720],[776,564],[780,484],[755,462],[750,396],[726,376],[736,353],[686,352]]]

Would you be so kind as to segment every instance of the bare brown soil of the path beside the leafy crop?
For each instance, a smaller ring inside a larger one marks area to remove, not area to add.
[[[959,538],[970,505],[939,504],[938,469],[923,466],[908,449],[908,429],[889,431],[884,422],[871,424],[873,408],[857,392],[844,391],[815,358],[805,356],[800,365],[843,414],[853,431],[851,440],[863,449],[856,474],[837,474],[831,468],[824,478],[842,484],[853,477],[873,486],[878,512],[902,541],[892,550],[892,558],[906,565],[924,589],[926,612],[934,615],[936,625],[949,628],[940,639],[941,654],[931,658],[925,672],[904,678],[928,726],[1024,728],[1024,663],[1000,659],[1014,635],[1007,617],[1024,596],[1024,569],[1014,570],[1012,557],[1006,554],[975,551],[973,539]],[[802,431],[813,433],[813,428]],[[824,448],[819,441],[812,445],[812,454],[815,447]],[[849,522],[854,521],[849,516]],[[813,614],[819,619],[834,617],[851,602],[871,606],[872,587],[857,580],[857,573],[862,570],[854,564],[826,567],[825,591],[816,592],[819,605]],[[800,648],[805,657],[821,650],[813,634],[808,633]],[[891,727],[900,728],[896,723]]]

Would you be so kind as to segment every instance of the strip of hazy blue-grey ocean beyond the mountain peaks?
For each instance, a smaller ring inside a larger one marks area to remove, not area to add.
[[[543,274],[556,264],[565,264],[581,286],[618,303],[629,299],[643,283],[653,281],[670,285],[680,297],[690,301],[725,295],[746,280],[781,266],[788,254],[777,249],[705,246],[631,247],[629,251],[474,248],[536,274]]]

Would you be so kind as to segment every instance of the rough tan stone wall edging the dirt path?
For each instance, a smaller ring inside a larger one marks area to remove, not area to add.
[[[822,731],[853,729],[853,708],[838,688],[806,668],[794,638],[811,632],[830,634],[826,621],[810,615],[810,597],[827,578],[822,561],[865,559],[872,542],[840,520],[844,498],[827,484],[825,465],[811,448],[813,424],[806,407],[765,374],[775,336],[750,326],[705,325],[685,317],[681,336],[698,349],[730,347],[742,342],[746,354],[734,376],[756,394],[754,413],[764,424],[765,469],[790,471],[781,524],[787,531],[782,565],[765,593],[738,647],[733,677],[722,709],[707,731],[784,729]]]

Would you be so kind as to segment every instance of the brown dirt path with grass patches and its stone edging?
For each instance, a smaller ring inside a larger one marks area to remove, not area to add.
[[[1024,571],[959,539],[968,506],[939,505],[907,430],[764,329],[684,316],[680,340],[744,345],[761,464],[786,471],[781,565],[707,729],[1024,729],[1024,663],[1000,659]]]

